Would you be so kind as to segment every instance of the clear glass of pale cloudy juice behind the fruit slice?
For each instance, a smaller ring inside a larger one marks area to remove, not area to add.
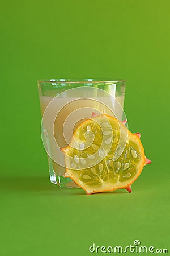
[[[120,121],[124,113],[125,80],[49,79],[37,81],[42,114],[41,138],[48,155],[50,181],[59,187],[77,187],[65,173],[60,150],[69,145],[78,125],[94,114]]]

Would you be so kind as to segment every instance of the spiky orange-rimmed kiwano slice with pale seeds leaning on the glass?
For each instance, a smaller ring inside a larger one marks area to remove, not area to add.
[[[98,115],[82,122],[65,153],[65,177],[70,177],[87,195],[125,188],[151,163],[145,157],[140,134],[131,133],[109,115]]]

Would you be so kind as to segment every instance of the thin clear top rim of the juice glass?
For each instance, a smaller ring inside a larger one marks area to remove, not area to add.
[[[76,78],[73,78],[73,79],[61,79],[61,78],[58,78],[58,79],[40,79],[40,80],[37,80],[38,83],[53,83],[53,82],[58,82],[58,83],[61,83],[61,84],[86,84],[86,83],[92,83],[92,84],[99,84],[99,83],[105,83],[105,82],[126,82],[126,80],[124,79],[94,79],[94,78],[88,78],[88,79],[76,79]]]

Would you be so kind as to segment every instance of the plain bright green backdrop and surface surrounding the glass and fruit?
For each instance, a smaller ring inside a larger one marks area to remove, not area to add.
[[[0,255],[91,255],[92,243],[135,239],[168,249],[169,11],[168,0],[1,3]],[[131,194],[50,184],[36,80],[54,77],[127,80],[129,129],[152,160]]]

